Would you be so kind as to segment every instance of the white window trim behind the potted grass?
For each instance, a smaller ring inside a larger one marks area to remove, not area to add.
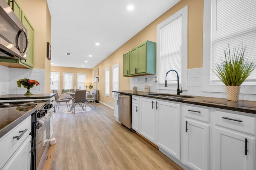
[[[222,83],[211,82],[211,12],[212,0],[204,0],[203,18],[203,92],[226,93],[226,86]],[[256,94],[255,85],[244,82],[240,94]]]

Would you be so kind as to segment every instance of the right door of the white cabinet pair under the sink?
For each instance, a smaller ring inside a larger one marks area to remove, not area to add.
[[[156,142],[180,159],[180,104],[156,100]]]

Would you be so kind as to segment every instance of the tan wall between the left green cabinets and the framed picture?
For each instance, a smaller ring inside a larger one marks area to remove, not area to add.
[[[34,27],[34,68],[45,69],[45,92],[50,91],[50,61],[46,58],[47,42],[51,43],[51,15],[46,0],[18,0]]]

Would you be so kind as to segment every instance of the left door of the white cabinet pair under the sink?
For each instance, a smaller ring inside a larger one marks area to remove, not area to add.
[[[155,143],[156,101],[140,98],[140,134]]]

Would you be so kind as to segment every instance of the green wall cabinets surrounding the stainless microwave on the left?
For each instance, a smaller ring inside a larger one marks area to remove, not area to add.
[[[6,0],[8,3],[9,1]],[[12,6],[12,3],[14,5]],[[24,11],[20,8],[20,5],[16,0],[10,1],[10,7],[16,14],[16,16],[20,19],[20,21],[23,23],[23,25],[28,30],[28,51],[26,53],[26,61],[24,60],[17,60],[17,59],[0,59],[0,65],[12,67],[12,68],[30,68],[32,69],[34,66],[34,27],[24,14]]]

